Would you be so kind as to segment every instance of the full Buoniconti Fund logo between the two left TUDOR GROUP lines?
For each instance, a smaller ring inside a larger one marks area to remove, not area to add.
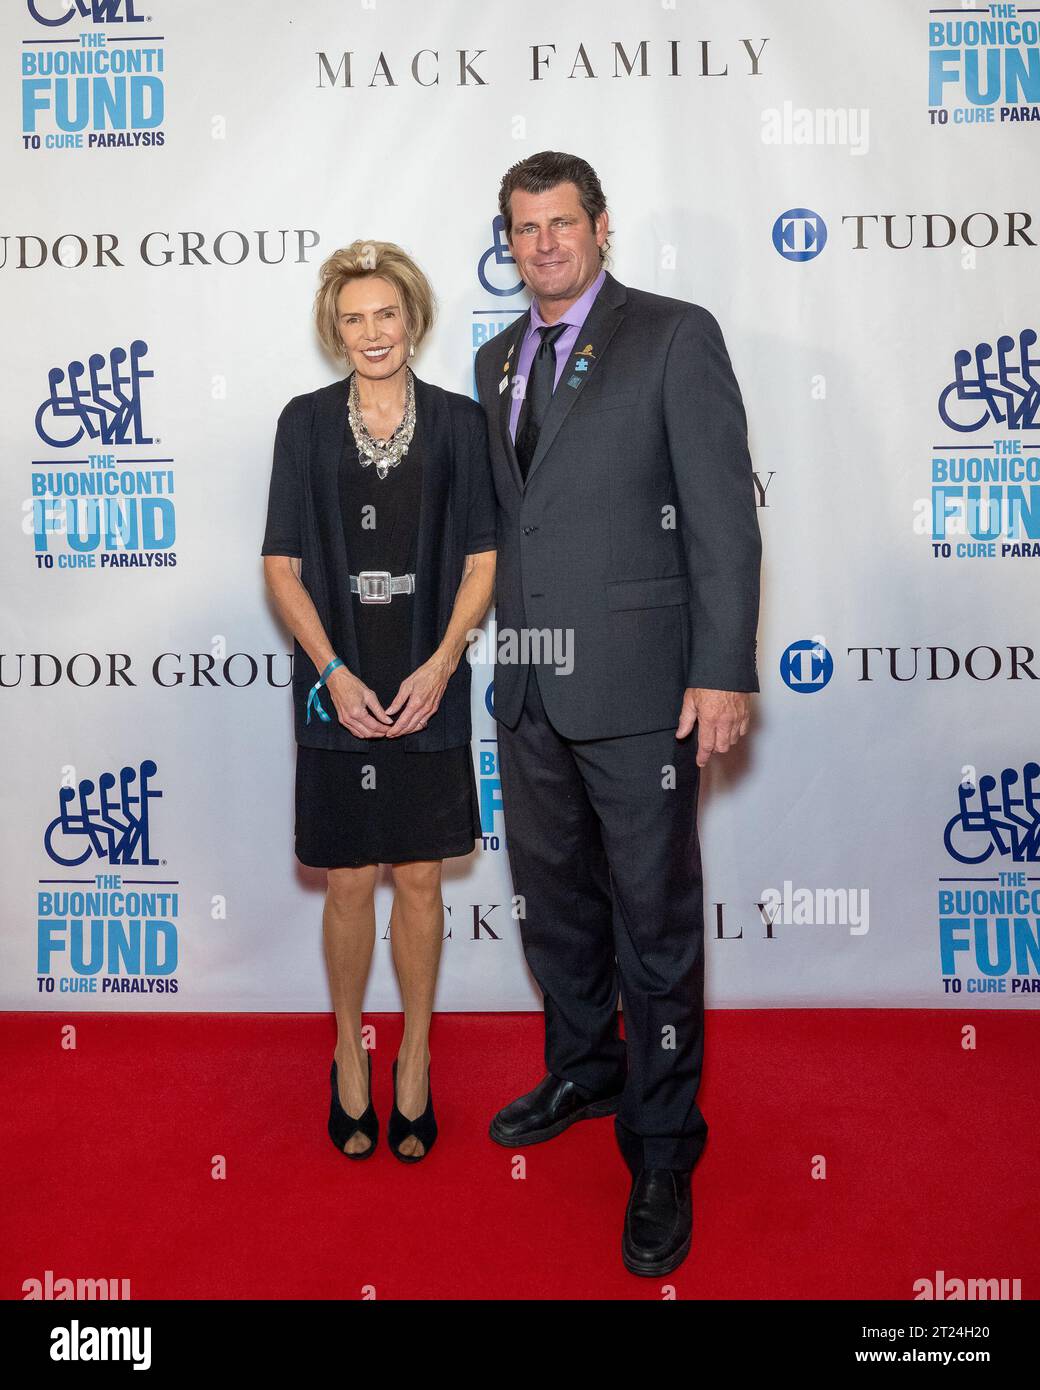
[[[147,343],[136,339],[47,371],[36,410],[46,457],[33,459],[25,525],[36,569],[164,569],[177,564],[174,460],[145,420]]]

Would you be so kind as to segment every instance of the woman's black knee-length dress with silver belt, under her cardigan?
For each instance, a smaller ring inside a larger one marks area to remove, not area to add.
[[[421,417],[409,452],[385,478],[363,468],[348,428],[339,468],[339,505],[350,571],[416,573],[423,470]],[[374,525],[364,525],[374,517]],[[421,577],[416,578],[421,582]],[[353,594],[360,680],[384,709],[412,674],[414,595],[361,603]],[[463,656],[463,660],[466,657]],[[321,703],[335,719],[328,691]],[[400,716],[396,716],[400,717]],[[296,748],[296,858],[318,869],[346,869],[409,859],[449,859],[473,852],[481,835],[469,745],[410,753],[409,735],[373,738],[364,752]],[[367,769],[367,771],[366,771]],[[370,785],[374,783],[374,785]]]

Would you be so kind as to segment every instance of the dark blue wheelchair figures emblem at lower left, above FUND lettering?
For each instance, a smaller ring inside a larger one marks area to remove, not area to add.
[[[157,865],[149,844],[149,805],[163,792],[152,787],[156,764],[101,773],[97,787],[83,778],[58,790],[58,815],[43,833],[43,848],[54,863],[72,869],[95,855],[110,865]],[[96,795],[95,795],[96,792]]]

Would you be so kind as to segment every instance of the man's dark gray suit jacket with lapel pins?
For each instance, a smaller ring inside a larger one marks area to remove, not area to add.
[[[539,664],[545,710],[566,738],[667,728],[690,685],[756,691],[762,541],[719,324],[608,272],[524,486],[509,404],[528,321],[476,361],[498,496],[499,646],[503,630],[573,631],[573,671]],[[510,728],[526,674],[495,664],[495,717]]]

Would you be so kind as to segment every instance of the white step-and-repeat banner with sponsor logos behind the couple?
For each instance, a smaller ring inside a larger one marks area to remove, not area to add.
[[[709,1004],[1040,1002],[1040,10],[8,0],[0,72],[0,1006],[328,1008],[275,421],[342,375],[311,300],[356,238],[424,268],[416,370],[473,392],[527,304],[499,179],[542,149],[747,404],[762,692],[702,780]],[[438,1006],[535,1008],[473,677]]]

